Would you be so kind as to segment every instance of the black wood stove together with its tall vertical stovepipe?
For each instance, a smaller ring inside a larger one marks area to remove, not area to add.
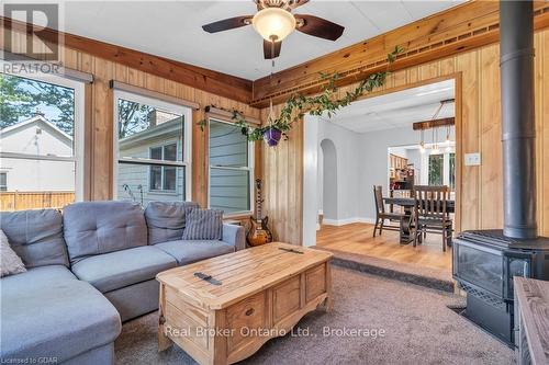
[[[453,240],[453,278],[466,316],[512,345],[513,276],[549,280],[549,238],[537,236],[534,125],[534,3],[500,2],[503,230]]]

